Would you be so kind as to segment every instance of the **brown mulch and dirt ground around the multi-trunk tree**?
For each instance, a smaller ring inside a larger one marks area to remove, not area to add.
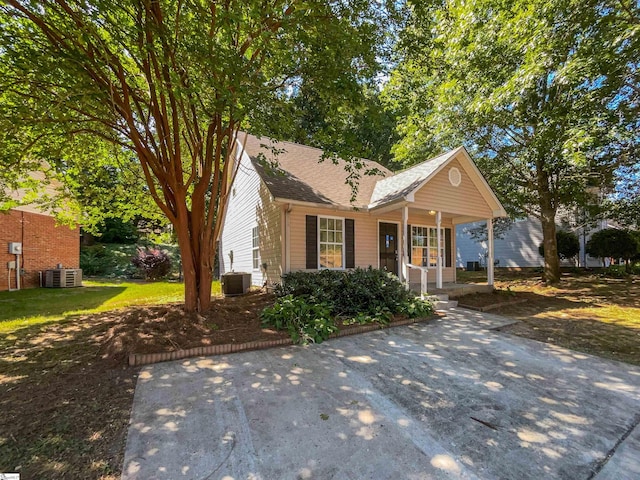
[[[120,478],[139,368],[129,353],[288,338],[264,329],[273,296],[216,298],[209,312],[130,307],[0,338],[0,472],[29,479]],[[357,328],[343,327],[342,329]]]

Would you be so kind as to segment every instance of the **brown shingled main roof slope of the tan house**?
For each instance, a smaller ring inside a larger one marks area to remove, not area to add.
[[[392,175],[382,165],[361,160],[364,169],[360,171],[358,192],[351,202],[352,189],[346,183],[349,173],[347,162],[326,159],[320,162],[323,151],[292,142],[274,141],[244,133],[238,134],[245,152],[276,199],[346,208],[366,208],[369,205],[376,183],[381,178]],[[274,167],[270,167],[273,162]],[[277,166],[276,163],[277,162]],[[377,175],[366,175],[365,170],[377,169]]]

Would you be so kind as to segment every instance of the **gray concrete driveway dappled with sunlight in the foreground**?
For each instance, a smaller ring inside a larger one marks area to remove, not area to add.
[[[157,364],[123,479],[638,479],[640,368],[431,324]]]

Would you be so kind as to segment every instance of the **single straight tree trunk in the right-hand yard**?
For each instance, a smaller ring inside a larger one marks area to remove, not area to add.
[[[544,245],[544,281],[547,285],[553,285],[560,281],[560,257],[556,241],[557,207],[549,189],[549,176],[541,165],[538,165],[538,195]]]

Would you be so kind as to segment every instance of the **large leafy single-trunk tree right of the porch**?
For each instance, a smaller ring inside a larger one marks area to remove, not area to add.
[[[639,20],[628,0],[412,2],[385,91],[395,152],[464,143],[507,210],[540,219],[549,283],[558,209],[609,187],[638,140]]]

